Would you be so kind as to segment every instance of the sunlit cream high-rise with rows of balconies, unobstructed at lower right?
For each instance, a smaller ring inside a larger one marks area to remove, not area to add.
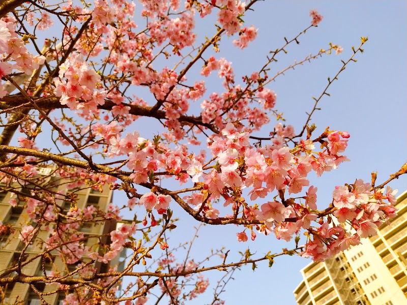
[[[376,236],[325,262],[301,270],[294,291],[300,305],[407,304],[407,191],[397,198],[397,217]]]

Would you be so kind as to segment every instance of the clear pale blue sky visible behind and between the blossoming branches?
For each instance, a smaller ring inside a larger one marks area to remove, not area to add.
[[[297,130],[303,126],[305,112],[313,105],[312,97],[322,93],[327,78],[334,76],[340,68],[340,60],[350,57],[353,52],[351,47],[359,45],[361,36],[369,38],[365,52],[356,57],[358,62],[348,65],[328,90],[331,97],[324,97],[319,104],[322,111],[313,116],[317,131],[322,132],[330,126],[331,129],[346,130],[351,134],[346,150],[351,162],[342,164],[338,170],[324,173],[322,178],[311,177],[311,184],[318,188],[319,206],[324,208],[332,200],[336,185],[352,183],[356,178],[370,181],[371,171],[378,172],[377,181],[381,182],[407,162],[407,2],[259,2],[253,7],[254,12],[244,17],[246,25],[253,24],[259,28],[257,40],[243,51],[232,47],[231,39],[224,40],[220,44],[220,56],[225,56],[234,64],[236,79],[250,74],[264,63],[269,50],[282,46],[284,36],[293,38],[309,25],[309,10],[314,8],[324,16],[324,20],[300,39],[300,45],[291,45],[287,48],[288,54],[280,54],[277,57],[279,62],[272,66],[272,71],[281,70],[296,59],[301,60],[309,53],[327,48],[329,42],[341,45],[344,51],[340,55],[324,56],[295,71],[288,71],[270,85],[277,93],[276,108],[284,112],[287,123],[293,124]],[[209,23],[199,23],[197,26],[209,33],[206,34],[208,36],[214,33],[213,25]],[[216,77],[207,81],[208,93],[215,91],[218,83]],[[135,129],[142,131],[141,126],[136,124]],[[149,125],[149,129],[154,129],[154,125]],[[272,126],[265,128],[259,135],[267,135],[271,129]],[[399,194],[402,193],[407,189],[407,177],[393,181],[391,186],[399,189]],[[114,196],[117,203],[124,200],[119,193]],[[178,230],[173,232],[171,246],[190,239],[193,226],[197,225],[183,211],[178,215],[181,221]],[[206,226],[200,231],[192,249],[194,257],[198,260],[209,254],[211,249],[219,247],[231,249],[232,258],[237,251],[247,247],[261,256],[268,251],[280,252],[282,247],[290,246],[273,236],[258,236],[255,242],[238,243],[236,232],[236,226]],[[222,298],[226,304],[233,305],[295,304],[293,290],[301,281],[299,270],[308,263],[308,259],[287,256],[276,259],[272,268],[268,268],[267,262],[259,264],[255,272],[251,266],[245,266],[235,273],[235,280],[226,286]],[[216,284],[219,271],[208,275],[212,284]],[[208,289],[208,294],[189,303],[211,302],[209,293],[212,289],[213,286]]]

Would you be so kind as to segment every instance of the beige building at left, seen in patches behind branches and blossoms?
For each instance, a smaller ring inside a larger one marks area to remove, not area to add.
[[[45,169],[47,172],[47,169]],[[45,176],[47,173],[43,173]],[[48,179],[48,180],[46,180]],[[52,176],[49,176],[45,179],[45,182],[50,184],[52,183],[52,179],[55,179]],[[59,186],[55,187],[56,190],[59,191],[66,191],[66,185],[64,183],[59,183]],[[0,221],[4,224],[10,224],[13,228],[14,233],[6,234],[3,236],[0,235],[0,278],[1,277],[10,277],[16,274],[15,272],[8,272],[8,268],[15,265],[18,261],[21,251],[25,246],[25,243],[21,242],[18,238],[19,231],[22,226],[30,225],[33,226],[35,223],[30,223],[30,219],[27,217],[26,209],[24,207],[23,197],[13,195],[10,192],[5,192],[3,186],[0,185]],[[28,194],[30,192],[27,188],[20,188],[18,190],[21,193]],[[109,186],[103,186],[103,192],[95,191],[93,189],[84,189],[78,190],[76,192],[78,195],[77,199],[77,207],[84,208],[88,205],[94,205],[95,207],[99,207],[99,209],[106,211],[108,204],[112,200],[112,191],[109,190]],[[10,205],[10,199],[16,198],[17,199],[17,206],[12,207]],[[70,202],[61,202],[64,205],[64,208],[69,209],[71,207]],[[116,222],[99,222],[98,224],[94,225],[83,225],[79,231],[86,234],[106,234],[116,228]],[[41,230],[39,234],[36,236],[34,242],[28,246],[25,251],[25,254],[28,255],[27,259],[38,255],[43,252],[44,245],[41,243],[41,240],[46,240],[49,236],[49,232],[45,230]],[[103,241],[102,241],[103,242]],[[106,240],[105,240],[106,242]],[[98,243],[97,238],[89,238],[86,242],[86,246],[91,247],[92,245],[96,245]],[[56,253],[56,251],[51,252],[52,257],[44,258],[44,266],[46,273],[51,270],[56,270],[61,272],[62,274],[67,274],[68,272],[72,272],[76,269],[76,264],[67,264],[63,261],[63,259]],[[86,259],[83,259],[86,261]],[[44,276],[43,269],[42,269],[42,257],[37,258],[33,262],[27,264],[22,268],[22,272],[28,276]],[[117,262],[115,262],[117,263]],[[96,265],[96,267],[100,271],[105,271],[107,265],[101,265],[100,263]],[[106,270],[107,271],[107,270]],[[56,289],[56,285],[45,285],[44,283],[38,283],[35,285],[36,289],[41,292],[49,292],[54,291]],[[69,292],[67,292],[69,293]],[[61,304],[62,300],[65,298],[64,293],[54,293],[51,295],[45,295],[44,299],[50,305],[57,305]],[[27,284],[8,284],[6,287],[0,287],[0,305],[5,304],[14,304],[17,301],[17,304],[20,305],[40,305],[41,300],[39,296],[34,292],[34,290]]]

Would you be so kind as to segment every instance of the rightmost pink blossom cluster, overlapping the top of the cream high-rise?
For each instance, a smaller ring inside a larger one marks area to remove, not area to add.
[[[309,236],[304,257],[322,261],[351,246],[361,243],[361,238],[377,234],[377,228],[396,217],[395,194],[391,187],[370,191],[370,184],[356,180],[351,186],[338,186],[333,191],[333,226],[328,222],[315,227]]]

